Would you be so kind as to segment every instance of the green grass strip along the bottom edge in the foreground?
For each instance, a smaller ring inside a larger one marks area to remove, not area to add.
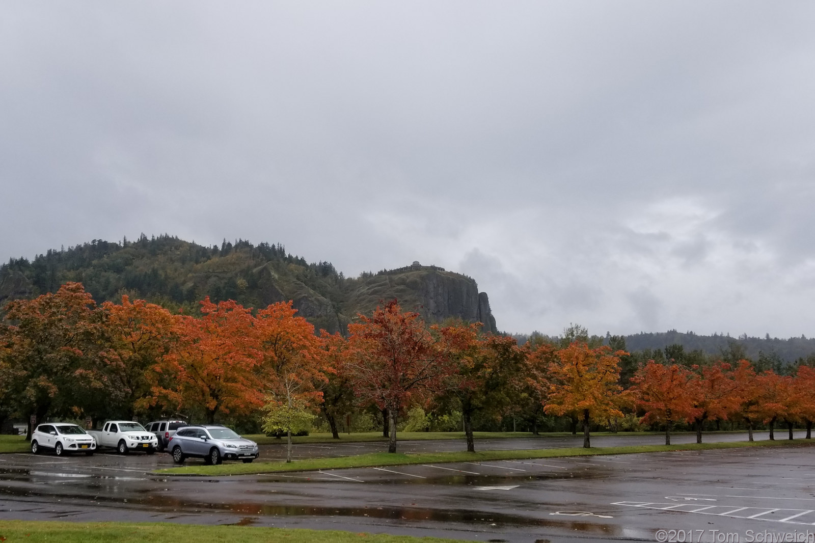
[[[232,543],[452,543],[435,537],[389,536],[385,534],[336,532],[250,526],[195,526],[170,523],[61,523],[53,521],[3,520],[0,541],[59,541],[59,543],[178,543],[178,541],[222,541]]]

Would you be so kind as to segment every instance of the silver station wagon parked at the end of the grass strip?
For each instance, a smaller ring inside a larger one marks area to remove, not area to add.
[[[176,464],[187,457],[203,458],[205,464],[220,464],[224,460],[242,460],[249,463],[260,456],[258,444],[244,439],[226,426],[184,426],[179,428],[167,444]]]

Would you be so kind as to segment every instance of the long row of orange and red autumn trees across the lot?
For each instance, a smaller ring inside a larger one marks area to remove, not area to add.
[[[200,317],[123,297],[97,306],[81,284],[7,304],[0,328],[0,417],[158,417],[186,414],[206,422],[262,419],[265,430],[291,431],[324,416],[337,420],[375,406],[396,450],[399,416],[419,405],[461,413],[474,450],[476,417],[548,413],[583,422],[643,415],[663,425],[707,420],[805,422],[815,403],[815,370],[793,376],[756,373],[749,362],[640,364],[620,381],[623,350],[579,334],[523,347],[478,324],[425,325],[394,300],[358,316],[348,336],[315,334],[291,303],[253,311],[234,301],[200,302]],[[574,332],[574,329],[572,329]],[[30,428],[29,428],[30,435]],[[752,439],[752,437],[751,437]]]

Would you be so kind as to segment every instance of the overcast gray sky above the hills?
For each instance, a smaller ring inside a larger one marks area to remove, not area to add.
[[[0,0],[0,258],[168,232],[500,329],[815,335],[815,2]]]

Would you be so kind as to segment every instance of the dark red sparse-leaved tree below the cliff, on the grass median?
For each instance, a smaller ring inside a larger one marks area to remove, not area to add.
[[[435,330],[435,328],[434,328]],[[399,412],[422,396],[443,391],[452,364],[418,313],[403,312],[396,300],[359,315],[349,324],[352,353],[346,371],[360,404],[388,409],[388,452],[396,452]]]

